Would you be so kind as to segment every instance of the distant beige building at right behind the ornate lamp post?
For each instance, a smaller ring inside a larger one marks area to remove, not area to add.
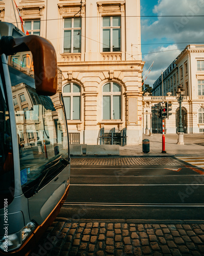
[[[165,120],[167,133],[176,133],[179,126],[179,103],[176,91],[180,84],[185,89],[182,102],[184,132],[203,133],[204,45],[188,45],[163,73],[164,100],[172,103],[172,115]],[[163,99],[161,97],[162,75],[156,80],[153,87],[152,96],[144,97],[146,102],[151,102],[149,106],[161,102]],[[147,101],[147,99],[149,100]]]

